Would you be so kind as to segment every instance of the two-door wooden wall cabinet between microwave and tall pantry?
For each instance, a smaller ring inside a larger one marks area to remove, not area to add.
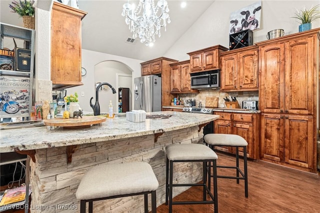
[[[258,90],[258,48],[248,46],[221,53],[222,91]]]

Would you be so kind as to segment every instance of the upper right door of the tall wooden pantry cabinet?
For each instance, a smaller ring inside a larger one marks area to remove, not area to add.
[[[313,114],[313,36],[285,42],[285,113]]]

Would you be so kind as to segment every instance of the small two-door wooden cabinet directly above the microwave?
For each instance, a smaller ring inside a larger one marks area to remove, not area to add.
[[[228,48],[215,45],[187,53],[190,55],[190,72],[220,69],[220,53]]]

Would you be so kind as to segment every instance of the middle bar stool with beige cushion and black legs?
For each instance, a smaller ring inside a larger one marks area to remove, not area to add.
[[[217,179],[216,179],[216,159],[218,156],[213,150],[204,144],[170,144],[165,147],[166,151],[166,175],[165,175],[165,204],[169,201],[169,213],[172,212],[173,204],[214,204],[214,212],[218,212],[217,199]],[[179,183],[173,184],[173,163],[174,162],[202,162],[202,183]],[[213,195],[210,185],[206,185],[206,174],[210,175],[210,170],[206,170],[207,164],[213,167]],[[177,186],[202,186],[203,200],[199,201],[172,201],[172,188]],[[206,192],[212,200],[206,200]]]

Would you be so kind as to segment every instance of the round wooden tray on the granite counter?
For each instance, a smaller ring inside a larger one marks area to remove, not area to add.
[[[104,116],[82,116],[79,118],[54,118],[43,120],[44,125],[62,126],[64,128],[83,128],[90,127],[92,124],[102,123],[106,120]]]

